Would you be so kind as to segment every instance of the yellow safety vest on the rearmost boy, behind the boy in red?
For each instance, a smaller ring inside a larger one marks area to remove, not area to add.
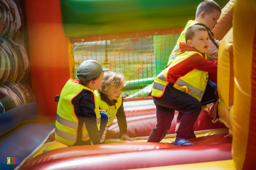
[[[185,26],[184,30],[181,32],[181,35],[177,40],[177,44],[175,45],[174,49],[172,50],[172,54],[169,57],[167,66],[169,66],[175,60],[175,58],[180,54],[180,42],[186,43],[185,32],[188,29],[188,27],[195,25],[197,23],[199,23],[199,22],[193,21],[193,20],[188,21],[187,25]]]

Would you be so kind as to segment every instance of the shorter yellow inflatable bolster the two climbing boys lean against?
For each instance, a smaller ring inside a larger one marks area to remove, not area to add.
[[[220,43],[218,55],[218,105],[219,120],[229,128],[232,134],[233,127],[233,96],[234,96],[234,70],[233,70],[233,27],[228,31]]]

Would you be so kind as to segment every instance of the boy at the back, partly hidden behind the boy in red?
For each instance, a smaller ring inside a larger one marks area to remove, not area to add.
[[[205,0],[199,4],[197,7],[196,11],[196,19],[195,21],[189,20],[187,25],[185,26],[185,29],[181,32],[181,36],[179,37],[176,46],[174,47],[170,57],[167,66],[169,66],[174,59],[178,56],[180,53],[180,42],[186,42],[185,41],[185,32],[188,27],[192,25],[202,25],[207,29],[208,36],[209,36],[209,48],[207,50],[206,56],[209,61],[211,60],[216,60],[218,61],[218,53],[219,53],[219,44],[220,41],[216,40],[214,38],[213,33],[211,32],[213,28],[216,26],[217,21],[219,20],[221,16],[221,7],[214,2],[213,0]],[[215,91],[217,91],[217,85],[215,83],[212,83],[209,81],[208,83],[213,86]],[[207,88],[211,88],[210,85],[207,85]],[[215,100],[211,101],[215,102]],[[209,104],[211,102],[205,101],[204,105]],[[180,123],[181,123],[181,118],[183,116],[182,112],[179,112],[178,117],[177,117],[177,126],[176,126],[176,131],[178,130]]]

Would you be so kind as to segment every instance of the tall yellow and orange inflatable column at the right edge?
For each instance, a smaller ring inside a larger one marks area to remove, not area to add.
[[[234,9],[233,159],[237,169],[256,163],[256,1],[238,0]]]

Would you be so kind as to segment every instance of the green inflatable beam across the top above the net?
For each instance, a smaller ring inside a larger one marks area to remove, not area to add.
[[[223,8],[229,0],[215,0]],[[70,38],[184,28],[202,0],[60,0]]]

